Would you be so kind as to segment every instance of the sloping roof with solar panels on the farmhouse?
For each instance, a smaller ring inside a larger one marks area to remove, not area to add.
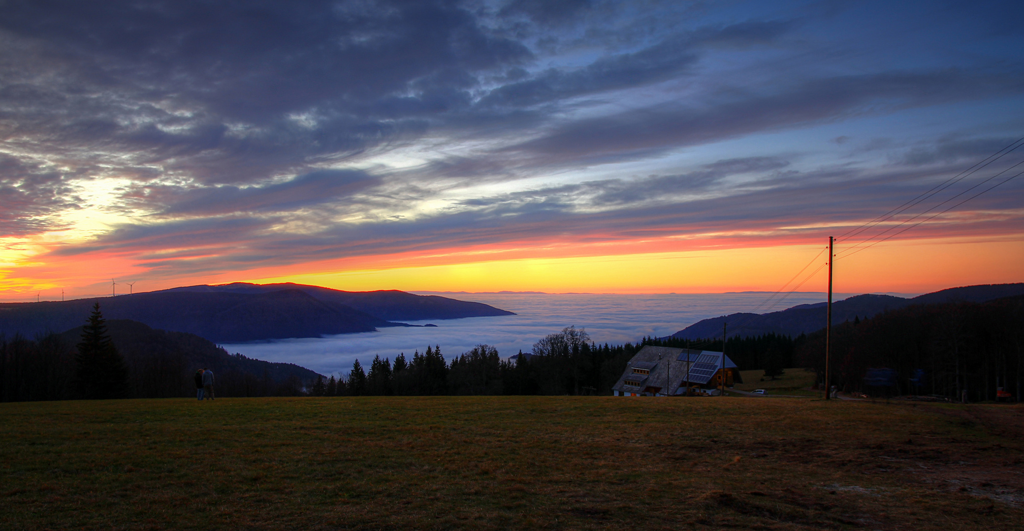
[[[636,393],[638,389],[645,387],[660,387],[675,391],[680,387],[685,387],[687,382],[687,369],[689,370],[689,382],[691,385],[707,385],[711,379],[722,367],[722,358],[725,358],[725,368],[736,368],[729,356],[721,352],[695,349],[674,349],[671,347],[646,346],[640,349],[630,362],[626,365],[626,370],[618,382],[611,387],[614,391],[626,391]],[[637,374],[633,368],[650,370],[649,374]],[[627,386],[626,380],[638,382],[639,378],[645,377],[646,382],[640,382],[640,387]]]

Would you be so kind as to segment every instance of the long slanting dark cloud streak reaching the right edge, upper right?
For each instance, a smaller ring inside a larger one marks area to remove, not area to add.
[[[727,97],[708,106],[660,104],[565,124],[509,150],[566,159],[646,156],[760,131],[862,114],[1018,93],[1022,76],[895,72],[807,81],[771,94]]]

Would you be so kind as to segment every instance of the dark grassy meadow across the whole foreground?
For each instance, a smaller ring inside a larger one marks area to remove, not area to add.
[[[0,528],[1009,531],[1022,418],[731,397],[2,403]]]

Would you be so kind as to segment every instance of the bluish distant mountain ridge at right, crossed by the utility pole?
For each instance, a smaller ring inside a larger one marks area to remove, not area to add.
[[[1024,295],[1024,282],[1006,284],[979,284],[950,287],[920,295],[911,299],[891,295],[858,295],[833,303],[833,324],[857,317],[873,317],[887,310],[896,310],[914,304],[944,302],[983,303],[1002,297]],[[785,310],[757,314],[733,313],[697,321],[675,334],[672,338],[696,340],[722,336],[722,324],[727,323],[729,337],[781,334],[799,336],[819,330],[825,326],[827,303],[801,304]]]

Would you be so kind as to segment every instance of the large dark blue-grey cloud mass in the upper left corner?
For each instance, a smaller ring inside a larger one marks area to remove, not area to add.
[[[10,1],[0,33],[11,133],[210,183],[421,135],[530,57],[453,2]]]

